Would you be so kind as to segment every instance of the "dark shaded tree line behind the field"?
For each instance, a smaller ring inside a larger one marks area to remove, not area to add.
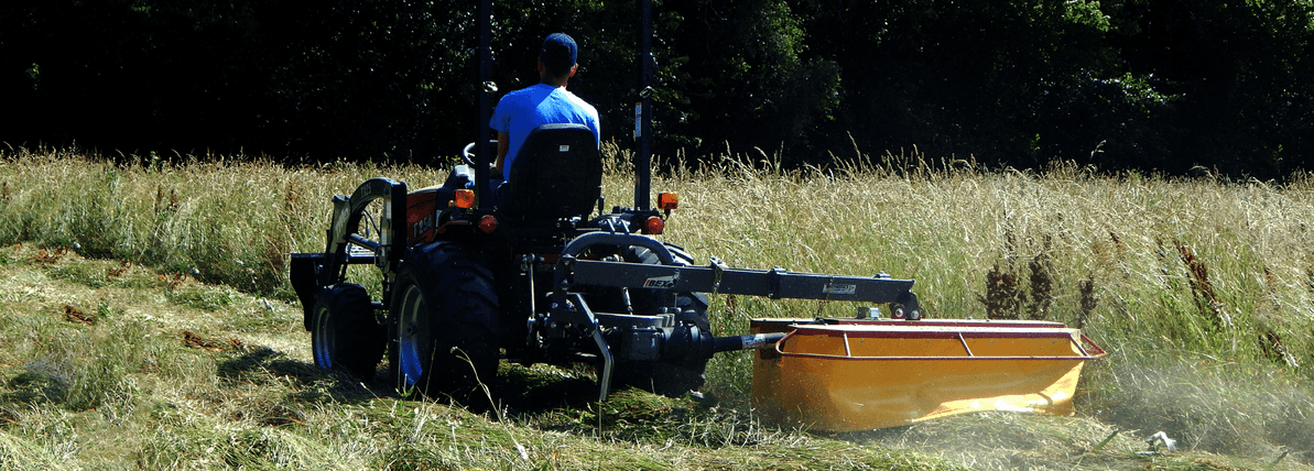
[[[1314,159],[1311,0],[654,1],[656,152],[825,164],[916,148],[1030,168],[1281,177]],[[498,1],[497,96],[579,43],[628,146],[637,1]],[[8,0],[0,142],[431,163],[478,130],[456,0]],[[757,150],[754,150],[757,148]]]

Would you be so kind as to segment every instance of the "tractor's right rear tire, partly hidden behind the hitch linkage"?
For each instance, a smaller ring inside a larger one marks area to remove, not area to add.
[[[694,262],[694,257],[682,248],[671,244],[665,245],[674,256],[675,265]],[[624,258],[633,264],[661,264],[661,258],[656,253],[643,247],[627,249]],[[702,332],[711,332],[711,324],[707,321],[707,295],[703,293],[631,289],[629,297],[636,314],[656,312],[658,307],[670,306],[670,297],[675,297],[675,307],[679,310],[677,320],[696,327]],[[677,361],[616,362],[614,378],[618,386],[632,386],[653,394],[679,398],[689,391],[703,387],[707,380],[704,371],[708,359],[711,358],[686,357]]]

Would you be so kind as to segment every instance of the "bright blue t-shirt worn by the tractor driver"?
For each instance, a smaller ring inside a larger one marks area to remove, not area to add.
[[[502,178],[511,180],[511,163],[530,131],[541,125],[585,125],[599,138],[598,110],[574,93],[548,84],[537,84],[507,93],[498,101],[489,123],[510,136],[510,148],[502,164]],[[599,138],[600,139],[600,138]],[[599,140],[599,144],[602,142]]]

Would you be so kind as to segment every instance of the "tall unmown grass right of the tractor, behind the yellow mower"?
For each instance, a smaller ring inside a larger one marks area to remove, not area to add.
[[[1223,453],[1314,450],[1307,176],[1276,185],[899,159],[794,172],[728,159],[653,186],[682,194],[668,235],[694,253],[915,278],[933,316],[997,316],[989,299],[1001,294],[989,291],[1001,283],[989,281],[1010,276],[1013,315],[1084,327],[1114,353],[1091,365],[1080,394],[1084,411],[1118,426]],[[848,308],[719,297],[712,311],[738,332],[748,316]],[[714,387],[745,388],[749,358],[716,358]]]

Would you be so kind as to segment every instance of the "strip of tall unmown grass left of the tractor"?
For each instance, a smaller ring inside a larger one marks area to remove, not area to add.
[[[130,260],[290,297],[289,252],[323,251],[328,199],[361,181],[424,186],[445,172],[264,157],[109,159],[70,151],[0,152],[0,243],[35,243]],[[125,163],[126,161],[126,163]]]

